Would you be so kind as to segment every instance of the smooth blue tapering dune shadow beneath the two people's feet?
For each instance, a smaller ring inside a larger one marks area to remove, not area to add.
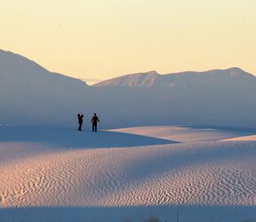
[[[178,143],[116,131],[76,131],[58,128],[0,127],[0,142],[36,142],[59,147],[142,147]]]

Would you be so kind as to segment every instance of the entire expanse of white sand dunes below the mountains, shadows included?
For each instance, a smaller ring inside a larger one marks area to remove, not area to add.
[[[0,221],[256,220],[248,133],[45,130],[0,128]]]

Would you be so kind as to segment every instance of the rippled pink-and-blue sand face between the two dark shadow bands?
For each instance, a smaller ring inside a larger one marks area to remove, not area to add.
[[[255,206],[255,145],[41,152],[1,165],[0,206]]]

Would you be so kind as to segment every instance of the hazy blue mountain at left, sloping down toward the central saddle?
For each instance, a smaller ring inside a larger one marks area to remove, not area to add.
[[[89,89],[12,52],[0,51],[0,77],[0,123],[65,123]]]

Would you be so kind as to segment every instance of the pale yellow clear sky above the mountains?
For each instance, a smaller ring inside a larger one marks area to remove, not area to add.
[[[0,49],[105,80],[241,67],[256,74],[255,0],[1,0]]]

